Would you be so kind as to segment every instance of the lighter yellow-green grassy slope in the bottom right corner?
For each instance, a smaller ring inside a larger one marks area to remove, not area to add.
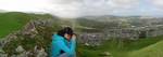
[[[131,52],[129,57],[163,57],[163,41],[142,49]]]

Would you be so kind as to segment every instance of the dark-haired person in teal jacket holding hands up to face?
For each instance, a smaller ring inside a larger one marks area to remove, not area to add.
[[[52,35],[51,57],[76,57],[76,35],[72,28],[65,27]]]

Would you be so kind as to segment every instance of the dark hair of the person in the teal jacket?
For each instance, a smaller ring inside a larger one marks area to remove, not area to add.
[[[73,29],[70,27],[65,27],[58,31],[58,34],[61,37],[64,37],[65,33],[73,35]]]

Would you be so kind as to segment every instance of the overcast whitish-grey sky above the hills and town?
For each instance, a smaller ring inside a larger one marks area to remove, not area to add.
[[[163,16],[163,0],[0,0],[0,10],[45,12],[62,17],[87,15]]]

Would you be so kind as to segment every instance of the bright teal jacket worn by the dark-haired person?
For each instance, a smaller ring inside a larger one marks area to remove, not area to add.
[[[66,39],[64,39],[59,34],[53,34],[51,57],[59,57],[61,55],[61,51],[66,53],[68,55],[67,57],[74,57],[75,47],[76,47],[75,39],[71,39],[71,41],[67,41]]]

